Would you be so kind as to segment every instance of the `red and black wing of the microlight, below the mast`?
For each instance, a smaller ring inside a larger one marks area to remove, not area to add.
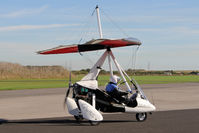
[[[125,39],[96,39],[86,42],[84,44],[62,45],[52,49],[38,51],[38,54],[65,54],[95,51],[107,48],[125,47],[132,45],[141,45],[141,41],[136,38]]]

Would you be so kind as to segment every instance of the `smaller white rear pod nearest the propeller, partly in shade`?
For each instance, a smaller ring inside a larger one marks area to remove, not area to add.
[[[68,112],[71,115],[79,116],[80,110],[78,109],[75,100],[73,100],[72,98],[67,97],[66,105],[67,105],[67,108],[68,108]]]

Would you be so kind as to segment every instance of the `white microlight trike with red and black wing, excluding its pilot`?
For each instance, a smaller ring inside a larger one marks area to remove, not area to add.
[[[58,46],[52,49],[39,51],[38,53],[46,55],[105,50],[103,55],[99,58],[96,64],[94,64],[86,76],[74,84],[71,84],[70,80],[64,102],[67,106],[68,112],[73,115],[77,121],[87,119],[91,125],[98,125],[103,121],[101,112],[135,113],[138,121],[145,121],[147,119],[147,113],[155,111],[156,108],[149,102],[138,83],[133,78],[130,78],[120,66],[111,50],[112,48],[139,46],[141,45],[141,41],[136,38],[103,38],[98,6],[96,6],[95,10],[97,12],[100,34],[99,39],[93,39],[84,44]],[[98,75],[106,58],[108,58],[110,78],[113,77],[111,61],[113,61],[122,77],[122,83],[125,84],[126,88],[126,95],[123,96],[123,98],[130,99],[127,100],[128,102],[126,100],[118,100],[106,93],[105,90],[99,88]],[[132,94],[132,92],[135,93]]]

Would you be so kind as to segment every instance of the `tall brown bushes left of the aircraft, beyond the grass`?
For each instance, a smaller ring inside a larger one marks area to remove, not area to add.
[[[17,63],[0,62],[0,79],[58,79],[68,77],[62,66],[22,66]]]

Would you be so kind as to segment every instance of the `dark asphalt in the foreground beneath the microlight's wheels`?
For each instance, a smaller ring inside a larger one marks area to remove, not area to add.
[[[160,111],[148,115],[145,122],[137,122],[135,114],[105,114],[98,126],[73,117],[1,120],[1,133],[198,133],[199,109]]]

